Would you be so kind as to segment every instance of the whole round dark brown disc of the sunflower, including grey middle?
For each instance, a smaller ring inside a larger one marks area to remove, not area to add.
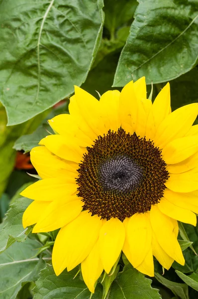
[[[92,215],[123,221],[159,202],[169,177],[161,151],[123,129],[99,136],[79,164],[78,196]]]

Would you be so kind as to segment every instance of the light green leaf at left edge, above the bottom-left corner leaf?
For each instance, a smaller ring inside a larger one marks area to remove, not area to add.
[[[22,197],[11,204],[0,230],[0,253],[15,241],[25,241],[28,229],[24,229],[22,226],[22,215],[31,202],[32,200]]]

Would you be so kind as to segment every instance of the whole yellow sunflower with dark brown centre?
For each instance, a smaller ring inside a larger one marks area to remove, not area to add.
[[[76,86],[69,112],[50,120],[56,134],[31,150],[42,179],[21,193],[33,199],[24,227],[60,229],[56,275],[81,264],[94,293],[121,252],[148,276],[153,256],[165,269],[184,265],[178,220],[197,221],[198,104],[171,112],[169,83],[152,104],[142,77],[99,101]]]

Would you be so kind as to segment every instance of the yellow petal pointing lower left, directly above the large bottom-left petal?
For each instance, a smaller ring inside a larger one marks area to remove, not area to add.
[[[80,214],[82,206],[83,202],[76,196],[52,201],[37,221],[32,232],[50,232],[65,226]]]

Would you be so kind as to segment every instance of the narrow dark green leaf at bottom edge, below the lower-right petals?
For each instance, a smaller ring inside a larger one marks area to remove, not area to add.
[[[155,273],[155,278],[163,286],[171,290],[175,296],[178,296],[181,299],[189,299],[189,291],[188,291],[188,286],[186,284],[178,284],[178,283],[171,282],[158,273]]]

